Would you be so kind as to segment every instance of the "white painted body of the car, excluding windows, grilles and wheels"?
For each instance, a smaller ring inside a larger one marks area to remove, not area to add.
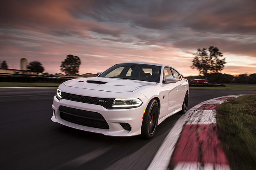
[[[102,133],[109,136],[134,136],[141,134],[144,110],[153,98],[156,98],[159,103],[160,113],[158,124],[164,121],[164,119],[167,117],[182,110],[185,94],[186,92],[189,92],[188,81],[182,78],[182,80],[179,80],[176,83],[162,83],[164,67],[171,66],[155,63],[140,64],[161,66],[162,68],[159,82],[124,80],[120,78],[105,77],[79,78],[62,83],[59,86],[59,89],[62,92],[95,98],[138,98],[142,101],[141,106],[126,109],[106,109],[105,107],[96,104],[88,104],[66,99],[58,100],[56,96],[54,96],[52,104],[52,108],[54,109],[54,113],[51,118],[52,121],[68,127],[94,133]],[[94,84],[86,82],[88,80],[106,83]],[[58,110],[60,106],[100,113],[108,123],[109,129],[88,127],[65,121],[60,117],[60,111]],[[128,123],[131,130],[124,130],[120,123]]]

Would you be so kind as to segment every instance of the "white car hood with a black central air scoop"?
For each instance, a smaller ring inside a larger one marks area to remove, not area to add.
[[[152,84],[152,82],[142,82],[120,78],[93,77],[69,80],[64,82],[64,84],[70,87],[100,90],[106,92],[133,92],[142,86]]]

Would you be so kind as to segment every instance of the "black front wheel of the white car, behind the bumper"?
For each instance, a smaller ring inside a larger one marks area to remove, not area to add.
[[[153,99],[150,101],[146,108],[146,112],[143,117],[141,127],[141,137],[144,139],[150,139],[156,132],[156,126],[158,124],[159,106],[158,102]]]

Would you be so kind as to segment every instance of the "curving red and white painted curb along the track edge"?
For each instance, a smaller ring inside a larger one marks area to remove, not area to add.
[[[230,169],[217,135],[216,107],[240,96],[244,95],[214,98],[188,110],[168,133],[148,170],[166,170],[170,163],[176,170]]]

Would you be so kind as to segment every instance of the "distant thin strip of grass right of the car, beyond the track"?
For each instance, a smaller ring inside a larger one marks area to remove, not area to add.
[[[256,90],[256,87],[247,86],[237,86],[233,84],[225,84],[226,87],[216,86],[216,87],[192,87],[190,89],[212,89],[212,90]]]

